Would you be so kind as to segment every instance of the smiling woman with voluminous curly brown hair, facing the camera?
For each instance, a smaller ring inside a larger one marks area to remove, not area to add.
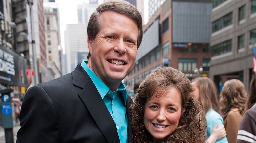
[[[171,67],[152,71],[130,107],[134,142],[205,142],[206,125],[192,91],[181,71]]]

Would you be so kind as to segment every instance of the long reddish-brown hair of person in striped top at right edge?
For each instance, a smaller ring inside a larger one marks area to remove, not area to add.
[[[249,95],[245,103],[245,111],[255,106],[256,106],[256,74],[253,75],[250,83]]]

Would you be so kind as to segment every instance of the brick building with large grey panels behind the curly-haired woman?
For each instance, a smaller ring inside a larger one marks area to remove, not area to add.
[[[128,87],[164,66],[178,69],[190,79],[208,77],[211,8],[210,0],[166,0],[143,27],[136,64],[126,79]],[[203,72],[195,74],[200,67]]]

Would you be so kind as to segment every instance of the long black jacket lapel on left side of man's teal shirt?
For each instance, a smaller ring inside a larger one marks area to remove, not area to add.
[[[78,64],[76,69],[71,74],[74,85],[83,88],[83,90],[79,93],[79,96],[86,105],[88,111],[95,120],[102,134],[105,136],[106,140],[109,143],[120,143],[116,124],[91,78],[80,64]]]

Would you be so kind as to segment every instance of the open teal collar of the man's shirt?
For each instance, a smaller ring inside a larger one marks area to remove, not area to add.
[[[98,77],[97,75],[87,66],[88,61],[83,61],[81,63],[81,66],[83,67],[83,69],[87,72],[87,74],[90,76],[90,78],[92,79],[94,85],[96,86],[101,98],[103,99],[105,97],[105,95],[107,94],[108,91],[112,92]],[[118,92],[120,91],[121,96],[124,99],[124,103],[126,104],[126,95],[127,95],[127,90],[124,86],[124,84],[121,82],[121,84],[119,85],[119,87],[117,88]]]

